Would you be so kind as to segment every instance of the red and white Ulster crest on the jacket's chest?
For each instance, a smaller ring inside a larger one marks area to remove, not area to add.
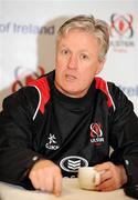
[[[92,123],[91,124],[91,142],[96,146],[100,146],[104,142],[102,124],[100,123]]]

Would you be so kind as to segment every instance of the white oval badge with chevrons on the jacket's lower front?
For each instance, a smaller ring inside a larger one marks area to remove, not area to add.
[[[64,171],[77,172],[79,167],[87,167],[88,162],[82,157],[71,156],[62,159],[60,166]]]

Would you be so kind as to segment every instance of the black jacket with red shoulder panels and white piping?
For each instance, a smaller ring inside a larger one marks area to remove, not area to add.
[[[114,151],[110,153],[110,147]],[[0,180],[29,188],[39,159],[76,177],[82,164],[124,164],[138,183],[138,118],[112,82],[95,78],[87,94],[73,99],[54,87],[54,71],[3,100],[0,113]]]

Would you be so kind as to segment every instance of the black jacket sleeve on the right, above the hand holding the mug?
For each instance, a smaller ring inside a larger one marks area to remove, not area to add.
[[[114,149],[110,159],[114,163],[124,164],[128,184],[138,184],[138,117],[132,103],[119,88],[110,86],[109,91],[116,108],[109,130]]]

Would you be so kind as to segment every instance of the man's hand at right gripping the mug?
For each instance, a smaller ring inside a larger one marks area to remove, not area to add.
[[[124,166],[115,166],[113,162],[104,162],[95,166],[100,174],[100,183],[96,187],[98,191],[112,191],[120,188],[127,182],[127,174]]]

